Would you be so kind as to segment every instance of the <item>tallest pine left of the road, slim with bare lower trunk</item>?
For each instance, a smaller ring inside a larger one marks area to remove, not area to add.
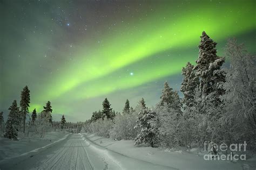
[[[30,91],[28,86],[23,88],[21,92],[21,102],[19,105],[21,106],[21,112],[23,114],[23,133],[25,133],[25,121],[26,121],[26,114],[29,112],[29,103],[30,103]]]

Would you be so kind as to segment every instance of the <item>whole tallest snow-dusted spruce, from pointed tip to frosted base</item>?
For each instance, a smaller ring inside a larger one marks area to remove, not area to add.
[[[200,81],[201,101],[205,108],[202,110],[204,110],[208,121],[206,123],[207,132],[211,133],[207,140],[214,140],[215,143],[218,143],[222,138],[219,119],[223,112],[224,103],[220,97],[225,94],[223,84],[226,73],[224,69],[221,69],[225,58],[217,56],[216,45],[217,43],[203,32],[199,44],[199,58],[194,70]]]

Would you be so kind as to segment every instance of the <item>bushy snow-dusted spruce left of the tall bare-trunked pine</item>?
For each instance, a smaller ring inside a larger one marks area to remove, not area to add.
[[[10,110],[10,112],[5,125],[4,137],[9,139],[17,139],[17,131],[19,124],[19,119],[17,119],[17,117],[19,116],[19,108],[17,107],[16,100],[14,100],[14,102],[8,110]]]

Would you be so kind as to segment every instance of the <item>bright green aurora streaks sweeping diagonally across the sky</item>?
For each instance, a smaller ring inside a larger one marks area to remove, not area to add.
[[[157,17],[152,16],[153,22],[146,21],[136,28],[125,29],[120,26],[117,34],[106,35],[100,44],[95,43],[81,49],[76,55],[80,62],[67,68],[64,73],[54,76],[54,80],[50,81],[49,87],[46,88],[48,91],[41,97],[54,99],[87,82],[86,84],[89,85],[85,86],[86,92],[81,94],[79,91],[75,96],[89,98],[111,93],[118,90],[117,87],[131,88],[163,76],[177,74],[187,60],[177,59],[174,62],[175,67],[173,65],[172,68],[170,65],[161,63],[153,68],[159,74],[145,73],[144,76],[132,79],[129,83],[122,79],[117,80],[112,86],[102,87],[102,84],[90,82],[153,54],[172,48],[197,45],[203,30],[215,40],[223,40],[226,37],[255,29],[255,20],[248,20],[248,16],[254,11],[254,6],[250,3],[243,5],[240,3],[233,3],[232,6],[224,4],[220,5],[218,10],[215,6],[205,8],[201,5],[200,8],[195,8],[190,12],[181,11],[180,16],[174,19],[164,11],[159,12]],[[168,19],[164,22],[159,19],[166,16]],[[236,23],[237,26],[235,26]],[[133,25],[136,26],[138,23]],[[104,83],[107,79],[100,81]]]

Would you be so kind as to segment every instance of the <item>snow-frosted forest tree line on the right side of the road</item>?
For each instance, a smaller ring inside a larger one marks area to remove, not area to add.
[[[121,114],[112,111],[105,98],[103,110],[93,112],[83,131],[168,148],[200,148],[205,141],[227,145],[246,141],[247,148],[255,151],[255,56],[230,39],[225,47],[230,67],[225,68],[225,58],[217,55],[217,43],[205,32],[200,38],[196,65],[187,62],[181,70],[183,98],[167,82],[152,108],[146,107],[144,98],[134,109],[127,100]]]

